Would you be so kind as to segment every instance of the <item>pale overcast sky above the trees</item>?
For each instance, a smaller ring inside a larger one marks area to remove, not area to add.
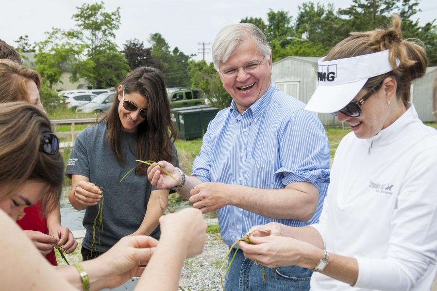
[[[31,42],[45,39],[44,32],[52,27],[71,29],[71,16],[76,7],[84,2],[96,0],[9,0],[0,4],[0,39],[12,46],[20,35],[28,35]],[[118,47],[129,39],[137,38],[149,46],[151,33],[159,32],[171,49],[178,47],[185,54],[198,54],[200,43],[212,43],[217,32],[225,25],[238,23],[242,18],[261,17],[267,19],[269,9],[288,11],[295,17],[298,5],[308,0],[105,0],[107,12],[118,6],[121,11],[120,29],[116,32]],[[349,7],[352,0],[314,0],[321,4],[334,3],[335,8]],[[422,10],[416,16],[420,24],[432,21],[437,15],[435,0],[420,0]],[[437,21],[436,21],[437,23]],[[210,49],[211,45],[205,45]],[[210,52],[210,50],[206,50]],[[205,55],[211,61],[211,54]]]

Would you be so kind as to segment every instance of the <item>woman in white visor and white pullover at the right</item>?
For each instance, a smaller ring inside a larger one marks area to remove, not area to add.
[[[255,226],[244,255],[270,268],[313,269],[311,290],[429,290],[437,270],[437,130],[410,103],[428,61],[388,29],[355,32],[319,60],[306,110],[349,133],[336,150],[319,224]]]

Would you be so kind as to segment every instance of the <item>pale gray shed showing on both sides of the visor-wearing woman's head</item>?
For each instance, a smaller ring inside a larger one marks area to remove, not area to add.
[[[318,60],[318,57],[286,57],[279,60],[273,63],[272,80],[279,90],[308,103],[318,86]],[[412,85],[412,100],[423,122],[435,121],[432,90],[436,78],[437,67],[428,67],[425,76]],[[332,114],[318,113],[318,116],[324,126],[343,126]]]

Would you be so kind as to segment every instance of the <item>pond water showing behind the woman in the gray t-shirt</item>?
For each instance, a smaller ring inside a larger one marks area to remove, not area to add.
[[[63,195],[61,197],[61,222],[62,226],[68,227],[70,230],[84,230],[84,226],[82,225],[82,221],[84,219],[85,210],[75,210],[70,202],[68,201],[68,192],[70,191],[70,187],[64,187]],[[182,210],[184,208],[190,207],[190,203],[188,201],[179,202],[177,204],[169,204],[168,208],[170,210]],[[203,215],[205,218],[217,218],[217,214],[215,211],[205,213]]]

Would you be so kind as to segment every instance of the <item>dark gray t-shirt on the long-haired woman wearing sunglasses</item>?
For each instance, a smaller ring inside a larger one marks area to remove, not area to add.
[[[105,123],[82,130],[74,143],[66,171],[68,177],[71,177],[71,174],[82,175],[88,177],[96,186],[103,187],[100,253],[106,252],[119,239],[139,228],[146,214],[150,193],[156,190],[151,186],[147,176],[137,176],[134,170],[120,182],[120,179],[137,164],[134,155],[136,133],[123,132],[120,135],[123,157],[127,162],[117,161],[108,141],[105,140],[107,133]],[[173,151],[177,156],[174,145]],[[177,159],[174,164],[179,166]],[[88,206],[85,210],[83,224],[86,233],[82,245],[88,250],[93,242],[93,223],[98,210],[98,205]],[[151,237],[159,239],[160,234],[157,226]],[[92,251],[99,252],[98,238]]]

